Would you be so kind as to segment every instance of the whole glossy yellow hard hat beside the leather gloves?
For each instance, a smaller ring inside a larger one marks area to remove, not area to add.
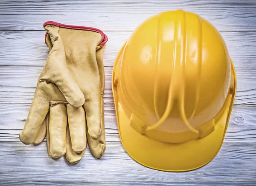
[[[183,172],[209,163],[221,148],[236,73],[213,25],[166,11],[145,20],[122,46],[112,89],[128,154],[152,169]]]

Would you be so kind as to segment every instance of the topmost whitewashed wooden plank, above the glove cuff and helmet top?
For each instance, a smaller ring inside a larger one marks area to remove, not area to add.
[[[53,20],[104,31],[133,31],[160,11],[182,8],[200,14],[220,31],[256,28],[255,0],[2,0],[1,30],[42,30]]]

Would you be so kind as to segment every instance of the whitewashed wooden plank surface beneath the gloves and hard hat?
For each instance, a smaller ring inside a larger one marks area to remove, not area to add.
[[[146,18],[183,8],[221,32],[237,73],[237,96],[218,155],[191,172],[148,169],[133,161],[119,139],[111,90],[113,62],[122,44]],[[23,129],[39,74],[47,59],[43,23],[92,26],[109,41],[104,53],[104,156],[87,148],[81,162],[53,160],[46,141],[24,145]],[[0,185],[256,185],[256,0],[1,0]]]

